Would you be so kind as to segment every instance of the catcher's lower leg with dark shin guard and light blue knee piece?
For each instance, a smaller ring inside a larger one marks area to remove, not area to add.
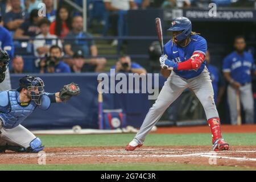
[[[10,146],[6,144],[6,146],[0,146],[0,152],[5,152],[6,150],[14,151],[14,152],[28,152],[28,153],[37,153],[44,149],[42,146],[42,142],[39,138],[35,138],[30,142],[30,147],[24,148],[20,146]]]

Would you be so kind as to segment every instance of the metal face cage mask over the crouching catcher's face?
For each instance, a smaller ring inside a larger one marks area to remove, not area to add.
[[[44,94],[44,82],[41,78],[35,77],[31,82],[31,86],[27,87],[28,91],[31,91],[31,100],[37,105],[41,105],[41,98]]]

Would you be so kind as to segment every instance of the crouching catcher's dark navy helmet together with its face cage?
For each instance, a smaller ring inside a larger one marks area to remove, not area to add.
[[[41,78],[35,76],[24,76],[19,79],[18,91],[22,89],[31,91],[31,100],[35,101],[37,105],[41,105],[41,97],[44,94],[44,82]]]

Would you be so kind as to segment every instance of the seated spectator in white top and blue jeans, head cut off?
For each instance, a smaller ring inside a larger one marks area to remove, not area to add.
[[[127,21],[125,20],[126,11],[131,9],[138,9],[134,0],[104,0],[105,9],[110,12],[109,20],[112,24],[114,36],[126,35]],[[118,21],[119,19],[119,21]],[[118,27],[119,22],[119,27]],[[112,46],[117,46],[118,40],[114,40]]]

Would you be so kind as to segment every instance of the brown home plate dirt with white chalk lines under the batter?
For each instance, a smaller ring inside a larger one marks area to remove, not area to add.
[[[46,148],[46,164],[96,163],[215,163],[217,166],[256,168],[256,148],[233,146],[229,151],[212,152],[207,146],[142,147],[125,151],[123,147]],[[0,154],[0,164],[37,164],[38,154]]]

